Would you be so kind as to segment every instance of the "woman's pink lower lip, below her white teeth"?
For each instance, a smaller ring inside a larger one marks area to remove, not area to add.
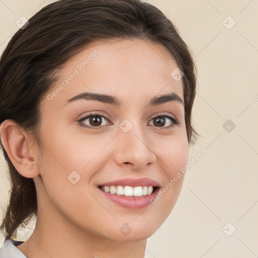
[[[99,189],[99,188],[98,188]],[[112,202],[120,205],[124,208],[130,209],[141,209],[147,207],[151,204],[151,199],[155,198],[157,195],[157,188],[151,195],[149,196],[140,196],[140,197],[130,197],[130,196],[120,196],[120,195],[113,195],[112,193],[105,192],[99,189],[109,200]]]

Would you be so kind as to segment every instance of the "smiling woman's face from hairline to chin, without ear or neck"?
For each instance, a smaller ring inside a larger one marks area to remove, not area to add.
[[[161,226],[188,159],[176,68],[161,44],[125,39],[95,41],[67,62],[41,103],[38,216],[117,241]]]

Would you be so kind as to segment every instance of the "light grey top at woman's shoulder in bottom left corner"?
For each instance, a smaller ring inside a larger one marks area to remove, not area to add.
[[[17,241],[7,238],[3,246],[0,248],[0,258],[27,258],[16,245],[22,244],[23,241]]]

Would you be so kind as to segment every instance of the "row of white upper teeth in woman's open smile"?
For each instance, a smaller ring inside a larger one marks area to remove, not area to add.
[[[120,195],[120,196],[147,196],[151,195],[153,192],[152,185],[150,186],[122,186],[122,185],[111,185],[111,186],[102,186],[101,189],[105,192],[110,192],[112,195]]]

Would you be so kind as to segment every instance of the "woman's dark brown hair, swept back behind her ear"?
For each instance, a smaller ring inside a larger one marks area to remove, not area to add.
[[[0,123],[15,120],[39,144],[40,102],[57,80],[56,71],[85,44],[109,38],[149,40],[170,51],[184,73],[186,132],[188,143],[194,144],[198,134],[191,124],[191,110],[196,68],[191,51],[172,22],[140,0],[61,0],[29,19],[0,59]],[[37,216],[37,194],[33,179],[18,173],[1,146],[10,171],[11,196],[0,229],[9,238],[17,235],[21,223]]]

